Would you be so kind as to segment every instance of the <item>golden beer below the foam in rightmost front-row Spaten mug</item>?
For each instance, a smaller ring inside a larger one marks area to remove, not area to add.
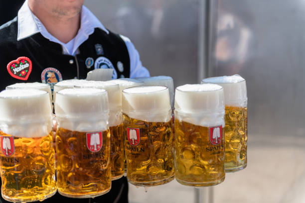
[[[224,131],[221,142],[209,140],[209,127],[175,121],[176,171],[178,183],[187,186],[213,186],[224,181]]]

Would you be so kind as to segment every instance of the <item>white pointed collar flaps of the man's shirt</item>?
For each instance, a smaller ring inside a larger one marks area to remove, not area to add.
[[[94,32],[94,28],[101,28],[107,34],[109,34],[109,31],[104,27],[100,20],[86,6],[83,5],[81,12],[81,26],[77,35],[84,34],[89,36]],[[32,13],[30,8],[28,7],[27,0],[25,0],[25,2],[18,11],[17,40],[19,41],[39,32],[42,32],[41,34],[43,34],[43,36],[45,32],[48,33],[43,24],[40,22],[40,20]],[[78,36],[76,36],[76,38],[77,37]]]

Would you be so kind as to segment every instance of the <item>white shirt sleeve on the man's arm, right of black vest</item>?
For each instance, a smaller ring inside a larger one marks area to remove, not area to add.
[[[124,40],[130,57],[130,78],[150,77],[150,72],[142,66],[140,55],[128,37],[120,35]]]

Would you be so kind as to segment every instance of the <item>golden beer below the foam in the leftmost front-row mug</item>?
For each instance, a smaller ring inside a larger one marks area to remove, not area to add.
[[[0,153],[2,197],[10,202],[34,202],[56,193],[55,151],[51,132],[45,137],[12,137],[14,154]],[[3,146],[1,146],[3,148]]]

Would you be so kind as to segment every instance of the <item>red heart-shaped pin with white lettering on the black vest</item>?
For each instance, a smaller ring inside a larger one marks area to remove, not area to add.
[[[29,58],[21,56],[7,64],[9,75],[18,80],[27,80],[32,72],[32,62]]]

